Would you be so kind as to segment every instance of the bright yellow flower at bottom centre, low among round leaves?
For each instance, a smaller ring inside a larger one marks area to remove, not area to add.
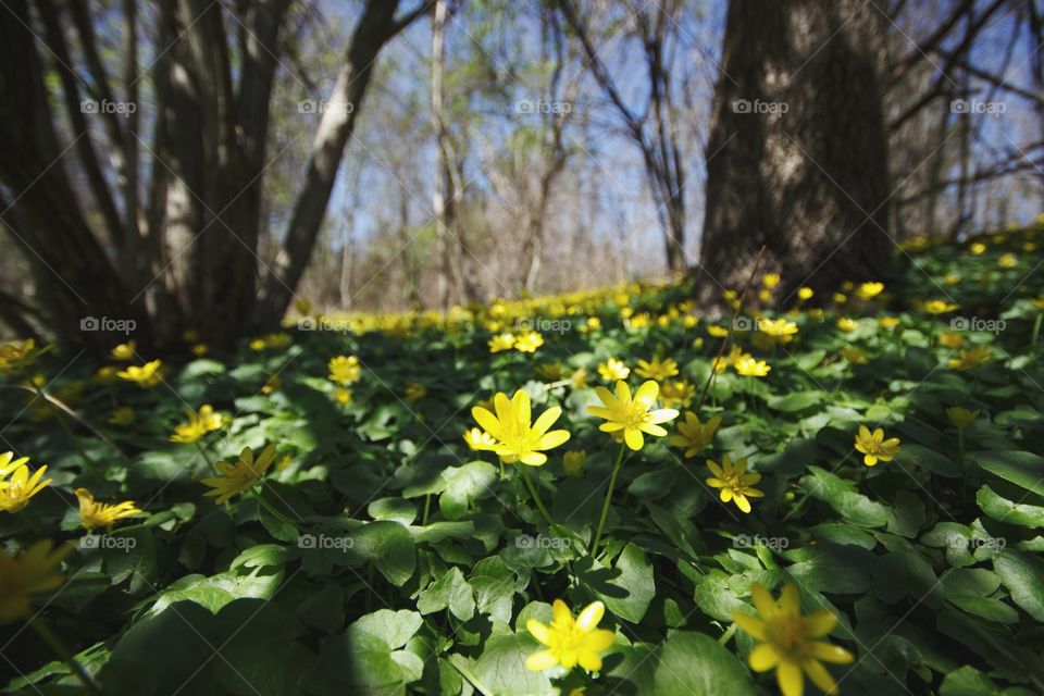
[[[580,616],[573,619],[573,612],[566,602],[556,599],[551,605],[552,620],[545,625],[536,619],[525,622],[525,630],[547,646],[533,652],[525,659],[525,667],[534,672],[561,664],[571,670],[577,664],[588,672],[601,669],[601,652],[612,645],[616,633],[598,629],[598,622],[606,613],[600,601],[587,605]]]

